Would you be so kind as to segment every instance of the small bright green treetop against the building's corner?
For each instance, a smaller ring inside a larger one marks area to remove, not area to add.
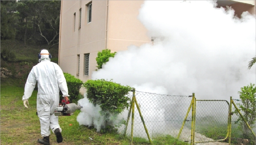
[[[110,57],[114,57],[115,54],[116,54],[116,52],[111,53],[110,49],[104,49],[101,52],[99,51],[98,56],[96,57],[98,69],[101,69],[102,65],[105,64],[109,60]]]

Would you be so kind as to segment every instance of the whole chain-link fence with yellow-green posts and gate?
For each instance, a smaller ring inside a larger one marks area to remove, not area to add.
[[[132,99],[133,93],[131,92],[129,96]],[[192,135],[193,143],[229,142],[229,132],[231,132],[232,144],[255,145],[255,135],[247,131],[247,136],[250,137],[244,136],[245,132],[237,122],[239,116],[234,113],[235,107],[232,107],[229,101],[195,99],[193,102],[193,97],[189,95],[175,96],[140,91],[135,91],[135,98],[139,109],[135,104],[133,129],[132,111],[125,110],[122,113],[124,119],[129,118],[129,120],[126,122],[128,123],[127,130],[125,130],[126,126],[122,125],[119,132],[125,133],[126,136],[131,136],[132,131],[134,137],[152,140],[158,136],[170,135],[185,142],[192,142]],[[194,103],[194,118],[192,102]],[[239,100],[234,100],[234,103],[238,106]],[[232,107],[231,112],[230,107]],[[146,128],[144,128],[143,121]],[[255,132],[255,124],[251,126]]]

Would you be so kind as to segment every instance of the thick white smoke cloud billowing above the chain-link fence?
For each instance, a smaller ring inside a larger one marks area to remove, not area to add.
[[[92,80],[113,79],[141,92],[239,99],[240,88],[256,81],[255,65],[247,69],[256,55],[256,20],[216,6],[205,0],[145,1],[137,18],[157,42],[117,52]],[[88,125],[82,116],[89,113],[77,117]]]

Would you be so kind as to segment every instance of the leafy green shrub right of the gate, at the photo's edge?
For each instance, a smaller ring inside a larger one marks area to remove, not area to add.
[[[241,99],[241,103],[239,103],[238,108],[239,111],[243,114],[243,117],[245,121],[248,123],[248,125],[253,128],[255,127],[256,123],[256,87],[255,84],[251,84],[241,87],[241,91],[238,91],[238,94]],[[235,110],[235,114],[238,114],[238,111]],[[249,128],[246,125],[246,122],[239,116],[236,123],[238,123],[244,132],[244,137],[249,136]]]

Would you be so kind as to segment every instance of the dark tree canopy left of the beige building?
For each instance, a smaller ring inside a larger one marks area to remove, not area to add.
[[[1,0],[1,40],[58,44],[60,0]]]

